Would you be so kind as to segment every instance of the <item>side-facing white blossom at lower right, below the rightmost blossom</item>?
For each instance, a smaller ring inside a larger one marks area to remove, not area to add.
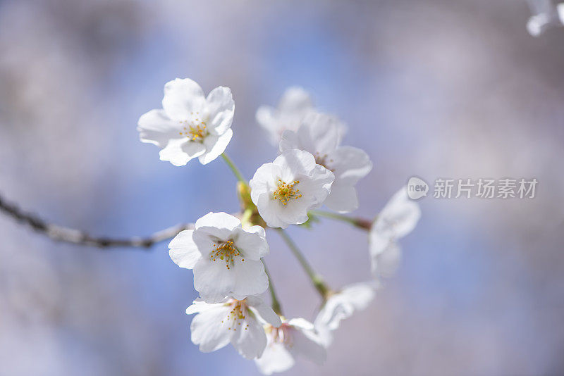
[[[350,318],[355,311],[361,311],[374,299],[378,284],[374,281],[360,282],[343,287],[331,294],[321,307],[314,321],[315,330],[325,346],[333,341],[333,330],[338,329],[341,320]]]

